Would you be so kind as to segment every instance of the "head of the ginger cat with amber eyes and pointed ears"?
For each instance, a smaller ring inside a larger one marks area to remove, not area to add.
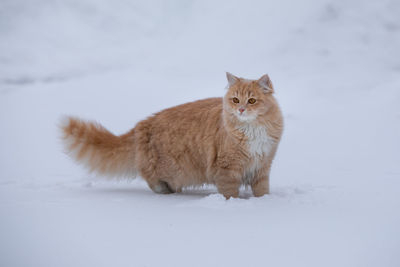
[[[239,121],[251,122],[266,114],[273,105],[274,89],[268,75],[258,80],[236,77],[229,72],[228,92],[224,97],[224,111],[235,116]]]

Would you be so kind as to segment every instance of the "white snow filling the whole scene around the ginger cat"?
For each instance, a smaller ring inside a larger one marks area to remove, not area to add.
[[[2,0],[0,266],[400,266],[400,2]],[[271,194],[88,175],[57,123],[114,133],[268,73]]]

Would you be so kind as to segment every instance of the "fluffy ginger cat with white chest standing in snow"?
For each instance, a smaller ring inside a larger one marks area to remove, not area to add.
[[[156,193],[215,184],[238,197],[241,185],[256,197],[269,193],[272,160],[283,117],[268,75],[248,80],[226,73],[223,98],[208,98],[158,112],[121,136],[96,122],[66,117],[66,151],[91,171],[139,174]]]

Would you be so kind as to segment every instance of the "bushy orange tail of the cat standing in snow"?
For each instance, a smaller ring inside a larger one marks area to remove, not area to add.
[[[136,170],[133,131],[116,136],[96,122],[65,117],[60,128],[67,154],[92,172],[133,177]]]

